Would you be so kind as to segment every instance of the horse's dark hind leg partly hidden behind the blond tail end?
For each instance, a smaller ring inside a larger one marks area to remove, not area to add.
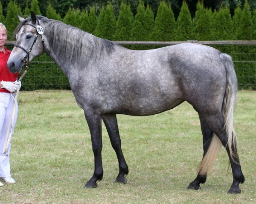
[[[200,116],[199,114],[199,119],[201,123],[201,130],[203,134],[203,149],[204,149],[204,155],[203,158],[209,148],[209,145],[212,141],[212,130],[209,128],[207,122],[205,122],[204,118]],[[194,181],[192,181],[189,186],[187,187],[188,189],[191,190],[198,190],[200,188],[200,184],[204,184],[206,181],[207,175],[201,175],[198,173],[197,177],[195,178]]]

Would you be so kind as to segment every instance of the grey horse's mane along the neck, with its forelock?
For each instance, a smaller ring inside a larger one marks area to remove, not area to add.
[[[58,20],[48,19],[40,15],[36,15],[36,17],[45,24],[44,34],[47,36],[52,52],[61,56],[61,59],[67,59],[77,66],[87,65],[89,60],[100,57],[103,52],[111,54],[114,51],[116,44],[109,40],[96,37]],[[31,17],[28,17],[20,22],[14,35],[30,20]]]

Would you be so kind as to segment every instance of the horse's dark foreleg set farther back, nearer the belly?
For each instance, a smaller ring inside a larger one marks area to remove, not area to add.
[[[102,119],[107,128],[111,145],[116,152],[116,156],[119,163],[119,174],[116,177],[116,182],[126,183],[127,180],[125,178],[125,175],[128,174],[129,170],[125,161],[125,157],[123,156],[123,153],[122,153],[121,139],[119,136],[116,114],[104,115],[102,116]]]

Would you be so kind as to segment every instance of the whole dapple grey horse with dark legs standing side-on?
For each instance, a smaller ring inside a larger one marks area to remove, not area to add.
[[[119,162],[116,182],[126,183],[128,166],[121,149],[116,114],[146,116],[187,101],[198,112],[203,159],[188,188],[199,189],[223,145],[230,159],[233,183],[244,182],[233,130],[237,79],[229,55],[205,45],[184,43],[135,51],[43,16],[23,19],[8,60],[11,72],[46,52],[68,77],[77,104],[84,110],[94,153],[94,173],[85,187],[102,179],[102,123]],[[157,128],[157,127],[156,127]]]

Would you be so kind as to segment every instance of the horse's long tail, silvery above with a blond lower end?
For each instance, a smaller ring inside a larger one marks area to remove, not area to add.
[[[226,69],[227,73],[227,86],[224,94],[224,99],[222,103],[222,115],[224,118],[224,130],[227,133],[227,146],[230,150],[231,159],[234,160],[234,156],[237,157],[236,148],[232,149],[232,144],[236,147],[236,132],[233,127],[233,116],[234,107],[236,102],[236,92],[237,92],[237,78],[234,69],[233,61],[231,56],[220,53],[219,54],[222,63]],[[212,169],[212,166],[218,156],[218,151],[222,143],[218,136],[213,133],[212,141],[209,145],[207,153],[204,155],[203,160],[198,166],[198,173],[201,175],[207,175],[207,173]]]

